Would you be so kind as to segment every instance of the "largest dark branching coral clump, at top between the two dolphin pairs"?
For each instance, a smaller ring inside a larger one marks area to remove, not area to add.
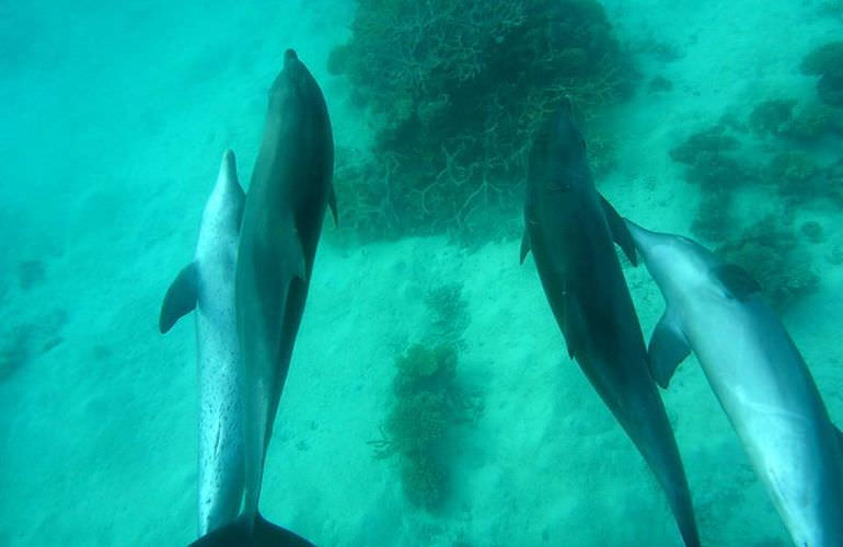
[[[489,213],[520,205],[531,136],[559,100],[590,116],[634,79],[594,0],[358,0],[351,31],[330,69],[374,140],[371,165],[340,164],[336,184],[346,225],[372,237],[499,225]],[[611,165],[607,139],[590,140]]]

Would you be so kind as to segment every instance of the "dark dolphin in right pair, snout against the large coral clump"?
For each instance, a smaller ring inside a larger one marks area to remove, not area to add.
[[[612,410],[665,489],[685,545],[700,545],[673,431],[649,375],[647,350],[613,238],[635,264],[623,220],[594,189],[569,100],[536,132],[530,152],[527,230],[568,354]]]

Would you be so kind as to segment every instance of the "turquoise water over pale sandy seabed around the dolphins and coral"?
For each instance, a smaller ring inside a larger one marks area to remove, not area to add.
[[[816,101],[799,63],[840,38],[841,9],[604,4],[642,80],[604,115],[616,164],[598,185],[623,214],[691,233],[700,185],[670,150],[762,101]],[[326,68],[354,14],[353,2],[303,0],[0,5],[0,544],[195,538],[195,334],[182,322],[159,335],[161,298],[192,256],[226,148],[247,181],[285,48],[321,83],[337,144],[369,142],[347,80]],[[649,93],[655,75],[672,88]],[[842,140],[793,147],[831,170]],[[789,144],[743,147],[769,158]],[[839,422],[840,206],[770,196],[738,188],[735,214],[787,210],[818,282],[783,321]],[[806,222],[821,225],[818,242]],[[567,359],[518,234],[466,247],[444,235],[349,243],[343,230],[323,230],[266,464],[267,517],[319,545],[680,545],[651,474]],[[661,296],[643,268],[625,274],[648,335]],[[458,374],[482,410],[454,427],[450,490],[427,511],[369,441],[394,398],[396,354],[437,329],[426,295],[451,281],[467,316]],[[788,545],[695,360],[663,398],[704,544]]]

